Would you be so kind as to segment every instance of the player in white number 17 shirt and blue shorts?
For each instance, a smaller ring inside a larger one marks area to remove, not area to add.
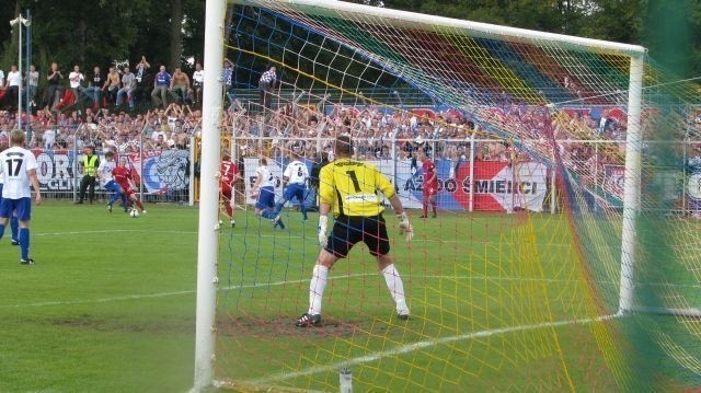
[[[30,219],[32,218],[32,188],[34,200],[42,203],[39,181],[36,177],[36,158],[24,149],[24,131],[10,132],[11,148],[0,153],[0,176],[2,176],[2,201],[0,203],[0,239],[4,234],[8,221],[14,211],[19,220],[21,258],[23,265],[34,265],[30,258]]]

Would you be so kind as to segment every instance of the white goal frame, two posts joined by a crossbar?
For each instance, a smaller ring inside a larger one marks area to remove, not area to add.
[[[365,23],[407,26],[415,30],[457,28],[474,37],[508,42],[552,42],[562,47],[578,48],[594,53],[616,54],[630,58],[628,90],[628,132],[625,148],[625,175],[621,245],[621,275],[619,314],[633,311],[633,274],[635,265],[635,221],[640,213],[643,72],[645,48],[635,45],[542,33],[485,23],[424,15],[389,10],[384,8],[347,3],[336,0],[283,0],[283,1],[230,1],[250,7],[266,7],[271,3],[295,5],[306,12],[330,15],[353,14]],[[225,0],[207,0],[205,25],[205,81],[202,195],[199,210],[199,243],[197,259],[197,321],[195,381],[193,391],[202,391],[214,380],[215,310],[217,290],[218,250],[218,159],[220,150],[219,120],[221,118],[221,65],[223,61]],[[357,48],[363,51],[361,48]]]

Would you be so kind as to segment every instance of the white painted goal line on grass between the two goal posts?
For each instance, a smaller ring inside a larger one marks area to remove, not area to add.
[[[424,342],[417,342],[417,343],[413,343],[413,344],[403,345],[403,346],[397,347],[394,349],[382,350],[382,351],[379,351],[379,352],[375,352],[372,355],[361,356],[359,358],[354,358],[354,359],[349,359],[349,360],[346,360],[346,361],[340,361],[340,362],[336,362],[336,363],[333,363],[333,365],[311,367],[311,368],[308,368],[306,370],[300,370],[300,371],[296,371],[296,372],[280,372],[280,373],[268,375],[268,377],[265,377],[265,378],[244,381],[244,383],[267,384],[267,383],[275,382],[275,381],[285,381],[285,380],[289,380],[289,379],[292,379],[292,378],[307,377],[307,375],[311,375],[311,374],[315,374],[315,373],[320,373],[320,372],[337,371],[343,367],[357,366],[357,365],[363,365],[363,363],[367,363],[367,362],[371,362],[371,361],[377,361],[377,360],[380,360],[382,358],[387,358],[387,357],[390,357],[390,356],[409,354],[409,352],[412,352],[412,351],[415,351],[415,350],[418,350],[418,349],[428,348],[428,347],[433,347],[433,346],[436,346],[436,345],[443,345],[443,344],[448,344],[448,343],[453,343],[453,342],[461,342],[461,340],[466,340],[466,339],[483,338],[483,337],[490,337],[490,336],[494,336],[494,335],[503,335],[503,334],[515,333],[515,332],[532,331],[532,330],[538,330],[538,328],[559,327],[559,326],[573,325],[573,324],[587,324],[587,323],[591,323],[591,322],[600,322],[600,321],[605,321],[605,320],[610,320],[610,319],[618,317],[618,316],[621,316],[621,315],[620,314],[612,314],[612,315],[597,316],[597,317],[594,317],[594,319],[558,321],[558,322],[544,322],[544,323],[532,324],[532,325],[521,325],[521,326],[494,328],[494,330],[489,330],[489,331],[480,331],[480,332],[473,332],[473,333],[468,333],[468,334],[461,334],[461,335],[457,335],[457,336],[441,337],[441,338],[436,338],[436,339],[432,339],[432,340],[424,340]]]

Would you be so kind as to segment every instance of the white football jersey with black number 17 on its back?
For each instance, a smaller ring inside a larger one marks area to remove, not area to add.
[[[30,175],[27,171],[36,170],[36,158],[30,150],[12,147],[0,153],[0,171],[2,171],[2,197],[8,199],[31,198]]]

